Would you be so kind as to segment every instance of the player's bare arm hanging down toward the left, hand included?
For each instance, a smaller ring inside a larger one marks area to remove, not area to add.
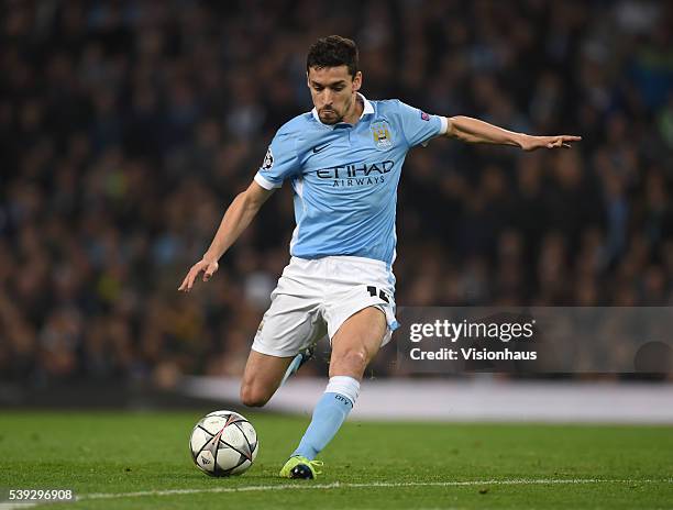
[[[239,239],[239,235],[250,225],[262,204],[274,193],[275,189],[265,189],[256,181],[247,189],[236,196],[231,206],[224,212],[220,228],[210,243],[210,247],[203,254],[203,258],[197,262],[183,280],[178,288],[189,292],[199,274],[203,273],[203,281],[208,281],[218,270],[218,260]]]

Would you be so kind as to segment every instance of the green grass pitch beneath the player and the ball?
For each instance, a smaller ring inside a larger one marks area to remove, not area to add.
[[[261,440],[255,465],[209,478],[187,447],[200,414],[0,411],[0,487],[73,488],[82,498],[49,508],[673,508],[672,428],[349,422],[321,456],[324,475],[305,481],[276,474],[308,417],[246,413]],[[553,483],[571,479],[585,481]],[[250,490],[277,485],[289,487]],[[166,489],[200,492],[86,499]]]

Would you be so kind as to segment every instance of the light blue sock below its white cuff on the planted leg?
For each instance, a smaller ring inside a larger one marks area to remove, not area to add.
[[[301,455],[312,461],[324,448],[336,434],[353,403],[340,393],[323,393],[316,409],[311,423],[304,433],[299,447],[291,456]]]

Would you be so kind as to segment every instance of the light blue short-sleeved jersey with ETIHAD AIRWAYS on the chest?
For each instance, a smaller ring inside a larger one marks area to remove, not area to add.
[[[272,141],[255,181],[290,179],[297,226],[290,254],[395,260],[397,184],[407,152],[446,131],[446,120],[398,100],[364,101],[355,124],[328,125],[313,109]]]

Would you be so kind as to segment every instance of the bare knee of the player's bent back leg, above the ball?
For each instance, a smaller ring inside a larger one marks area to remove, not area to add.
[[[278,357],[251,351],[241,382],[241,402],[262,407],[274,396],[294,356]]]

